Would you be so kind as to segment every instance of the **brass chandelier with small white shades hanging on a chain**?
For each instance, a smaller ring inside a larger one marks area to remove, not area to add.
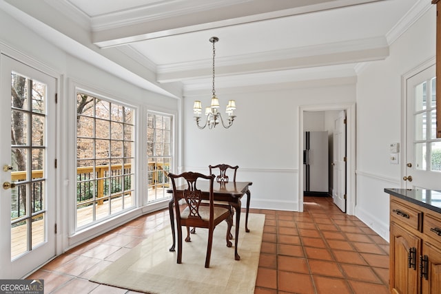
[[[202,113],[202,103],[201,101],[194,101],[193,105],[193,113],[195,114],[194,120],[196,120],[196,125],[199,129],[204,129],[208,126],[209,129],[212,129],[213,127],[216,127],[218,123],[222,123],[223,127],[225,129],[231,127],[234,122],[234,118],[236,117],[233,112],[234,109],[236,109],[236,101],[229,100],[227,104],[227,110],[226,113],[228,115],[227,123],[225,124],[223,121],[222,116],[220,115],[220,112],[218,112],[219,106],[219,100],[216,97],[216,90],[214,90],[214,56],[216,55],[216,50],[214,48],[214,43],[219,41],[219,38],[217,36],[212,36],[209,41],[213,43],[213,90],[212,90],[212,104],[209,107],[205,107],[205,116],[207,116],[207,120],[205,120],[205,124],[201,126],[199,123],[201,122],[201,113]]]

